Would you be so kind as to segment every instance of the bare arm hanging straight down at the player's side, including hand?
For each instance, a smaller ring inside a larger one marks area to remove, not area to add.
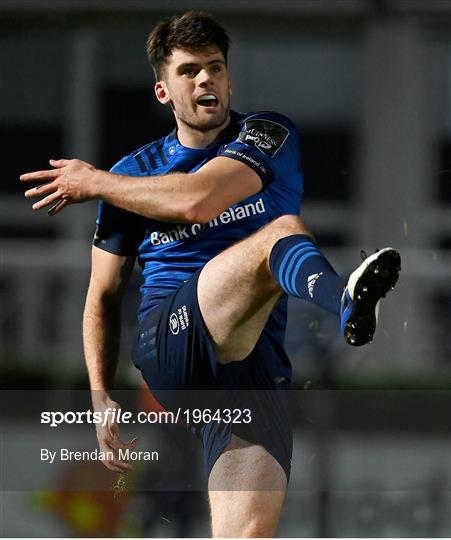
[[[101,412],[106,425],[96,424],[97,439],[102,452],[113,452],[114,459],[104,465],[116,472],[133,467],[119,459],[119,448],[133,448],[135,438],[124,443],[119,438],[119,426],[107,414],[118,410],[119,404],[109,396],[119,354],[121,300],[133,268],[133,257],[120,257],[99,248],[92,248],[92,272],[83,316],[83,342],[89,374],[94,411]],[[109,454],[107,454],[109,455]]]

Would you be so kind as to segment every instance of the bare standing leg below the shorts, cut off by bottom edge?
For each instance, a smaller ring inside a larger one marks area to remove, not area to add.
[[[209,478],[213,537],[271,537],[286,491],[280,464],[262,446],[232,436]]]

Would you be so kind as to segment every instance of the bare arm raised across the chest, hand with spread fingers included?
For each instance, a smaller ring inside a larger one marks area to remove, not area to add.
[[[22,182],[44,182],[25,192],[42,197],[34,210],[61,201],[52,213],[68,204],[101,199],[129,212],[160,221],[206,223],[230,205],[262,188],[258,174],[227,157],[217,157],[198,171],[164,176],[130,177],[96,169],[78,159],[50,160],[50,170],[23,174]]]

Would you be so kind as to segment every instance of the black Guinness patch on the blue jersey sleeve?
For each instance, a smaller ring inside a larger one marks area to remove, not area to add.
[[[255,146],[263,154],[274,157],[282,148],[290,132],[282,124],[272,120],[246,120],[244,130],[239,134],[238,141]]]

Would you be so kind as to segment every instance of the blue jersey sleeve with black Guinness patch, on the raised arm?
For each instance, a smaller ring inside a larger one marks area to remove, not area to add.
[[[285,116],[253,113],[242,122],[238,136],[221,147],[218,156],[248,165],[261,178],[263,189],[278,175],[300,170],[299,134]]]

